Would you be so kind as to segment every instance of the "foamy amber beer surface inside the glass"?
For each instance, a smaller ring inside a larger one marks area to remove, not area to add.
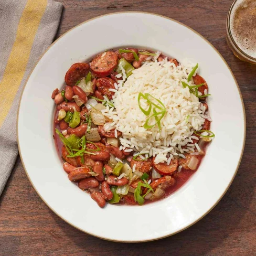
[[[230,14],[230,30],[238,47],[256,58],[255,0],[237,0]]]

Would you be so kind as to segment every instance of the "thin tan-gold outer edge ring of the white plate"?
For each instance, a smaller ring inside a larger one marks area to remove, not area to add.
[[[148,14],[148,15],[153,15],[153,16],[158,16],[158,17],[162,17],[162,18],[165,18],[165,19],[168,19],[168,20],[172,20],[173,22],[175,23],[178,23],[179,25],[182,25],[186,28],[188,28],[189,30],[193,31],[194,33],[196,33],[198,36],[200,36],[202,39],[204,39],[207,44],[209,44],[216,52],[217,54],[220,56],[220,58],[222,59],[222,61],[225,63],[225,65],[227,66],[227,68],[229,69],[229,72],[231,74],[231,76],[233,77],[234,79],[234,82],[236,83],[236,86],[237,86],[237,89],[238,89],[238,92],[239,92],[239,96],[240,96],[240,100],[241,100],[241,103],[242,103],[242,109],[243,109],[243,125],[244,125],[244,133],[243,133],[243,145],[242,145],[242,148],[241,148],[241,152],[240,152],[240,158],[239,158],[239,161],[238,161],[238,164],[237,164],[237,168],[236,168],[236,172],[234,172],[234,175],[233,177],[231,178],[226,190],[223,192],[223,194],[220,196],[220,198],[216,201],[216,203],[204,214],[202,215],[200,218],[196,219],[193,223],[190,223],[189,225],[187,225],[186,227],[184,227],[183,229],[180,229],[176,232],[173,232],[173,233],[170,233],[170,234],[167,234],[166,236],[162,236],[162,237],[158,237],[158,238],[155,238],[155,239],[147,239],[147,240],[140,240],[140,241],[131,241],[131,240],[116,240],[116,239],[108,239],[108,238],[105,238],[105,237],[101,237],[101,236],[97,236],[95,234],[92,234],[90,232],[87,232],[87,231],[84,231],[83,229],[81,229],[80,227],[76,226],[76,225],[73,225],[72,223],[70,223],[68,220],[66,220],[65,218],[63,218],[62,216],[60,216],[53,208],[51,208],[48,203],[45,201],[44,198],[42,198],[42,196],[39,194],[38,190],[36,189],[35,185],[33,184],[33,182],[31,181],[29,175],[28,175],[28,172],[26,170],[26,167],[25,167],[25,163],[23,161],[23,157],[22,157],[22,152],[20,150],[20,146],[19,146],[19,133],[18,133],[18,121],[19,121],[19,111],[20,111],[20,102],[22,101],[22,98],[23,98],[23,93],[24,93],[24,90],[27,86],[27,82],[31,76],[31,74],[34,72],[34,69],[36,68],[38,62],[41,60],[41,58],[46,54],[46,52],[62,37],[66,36],[67,33],[69,33],[71,30],[85,24],[85,23],[88,23],[90,22],[91,20],[94,20],[94,19],[98,19],[98,18],[101,18],[101,17],[104,17],[104,16],[110,16],[110,15],[115,15],[115,14],[126,14],[126,13],[134,13],[134,14]],[[241,164],[241,160],[242,160],[242,156],[243,156],[243,152],[244,152],[244,146],[245,146],[245,142],[246,142],[246,111],[245,111],[245,108],[244,108],[244,103],[243,103],[243,98],[242,98],[242,93],[240,91],[240,88],[239,88],[239,85],[238,85],[238,82],[237,82],[237,79],[236,77],[234,77],[234,74],[231,70],[231,68],[229,67],[227,61],[222,57],[222,55],[220,54],[220,52],[214,47],[214,45],[211,44],[211,42],[209,42],[204,36],[202,36],[201,34],[199,34],[195,29],[193,28],[190,28],[189,26],[185,25],[184,23],[181,23],[181,22],[178,22],[177,20],[173,19],[173,18],[169,18],[169,17],[166,17],[164,15],[160,15],[160,14],[155,14],[155,13],[150,13],[150,12],[137,12],[137,11],[127,11],[127,12],[114,12],[114,13],[108,13],[108,14],[103,14],[103,15],[100,15],[100,16],[96,16],[96,17],[93,17],[91,19],[88,19],[74,27],[72,27],[71,29],[67,30],[65,33],[63,33],[60,37],[58,37],[54,42],[52,42],[52,44],[40,55],[40,57],[38,58],[37,62],[35,63],[34,67],[31,69],[30,73],[29,73],[29,76],[28,78],[26,79],[26,82],[24,84],[24,87],[23,87],[23,90],[22,90],[22,94],[20,95],[20,99],[19,99],[19,104],[18,104],[18,111],[17,111],[17,119],[16,119],[16,133],[17,133],[17,143],[18,143],[18,152],[19,152],[19,156],[20,156],[20,159],[22,161],[22,165],[23,165],[23,168],[25,170],[25,173],[27,175],[27,178],[30,182],[30,184],[33,186],[33,188],[35,189],[36,193],[38,194],[38,196],[40,197],[40,199],[50,208],[51,211],[53,211],[59,218],[61,218],[63,221],[65,221],[66,223],[68,223],[70,226],[82,231],[83,233],[86,233],[86,234],[89,234],[90,236],[93,236],[93,237],[97,237],[97,238],[100,238],[100,239],[103,239],[103,240],[106,240],[106,241],[112,241],[112,242],[122,242],[122,243],[141,243],[141,242],[150,242],[150,241],[156,241],[156,240],[159,240],[159,239],[163,239],[163,238],[167,238],[167,237],[170,237],[170,236],[173,236],[174,234],[177,234],[179,232],[182,232],[184,231],[185,229],[193,226],[195,223],[197,223],[199,220],[201,220],[202,218],[204,218],[207,214],[209,214],[209,212],[214,209],[214,207],[219,203],[219,201],[222,199],[222,197],[227,193],[230,185],[232,184],[233,182],[233,179],[234,177],[237,175],[237,172],[238,172],[238,169],[239,169],[239,166]]]

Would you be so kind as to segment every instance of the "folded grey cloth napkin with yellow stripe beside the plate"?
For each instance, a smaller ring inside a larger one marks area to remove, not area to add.
[[[0,1],[0,195],[17,155],[20,94],[39,56],[54,40],[62,4],[51,0]]]

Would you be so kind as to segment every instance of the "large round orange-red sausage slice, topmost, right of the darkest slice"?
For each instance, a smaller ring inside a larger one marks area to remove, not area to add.
[[[113,51],[105,51],[91,62],[91,70],[97,77],[106,77],[118,65],[118,56]]]

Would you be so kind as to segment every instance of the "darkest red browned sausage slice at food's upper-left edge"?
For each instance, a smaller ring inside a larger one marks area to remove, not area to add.
[[[68,86],[74,86],[78,80],[87,76],[89,70],[87,63],[74,63],[66,73],[65,82]]]

